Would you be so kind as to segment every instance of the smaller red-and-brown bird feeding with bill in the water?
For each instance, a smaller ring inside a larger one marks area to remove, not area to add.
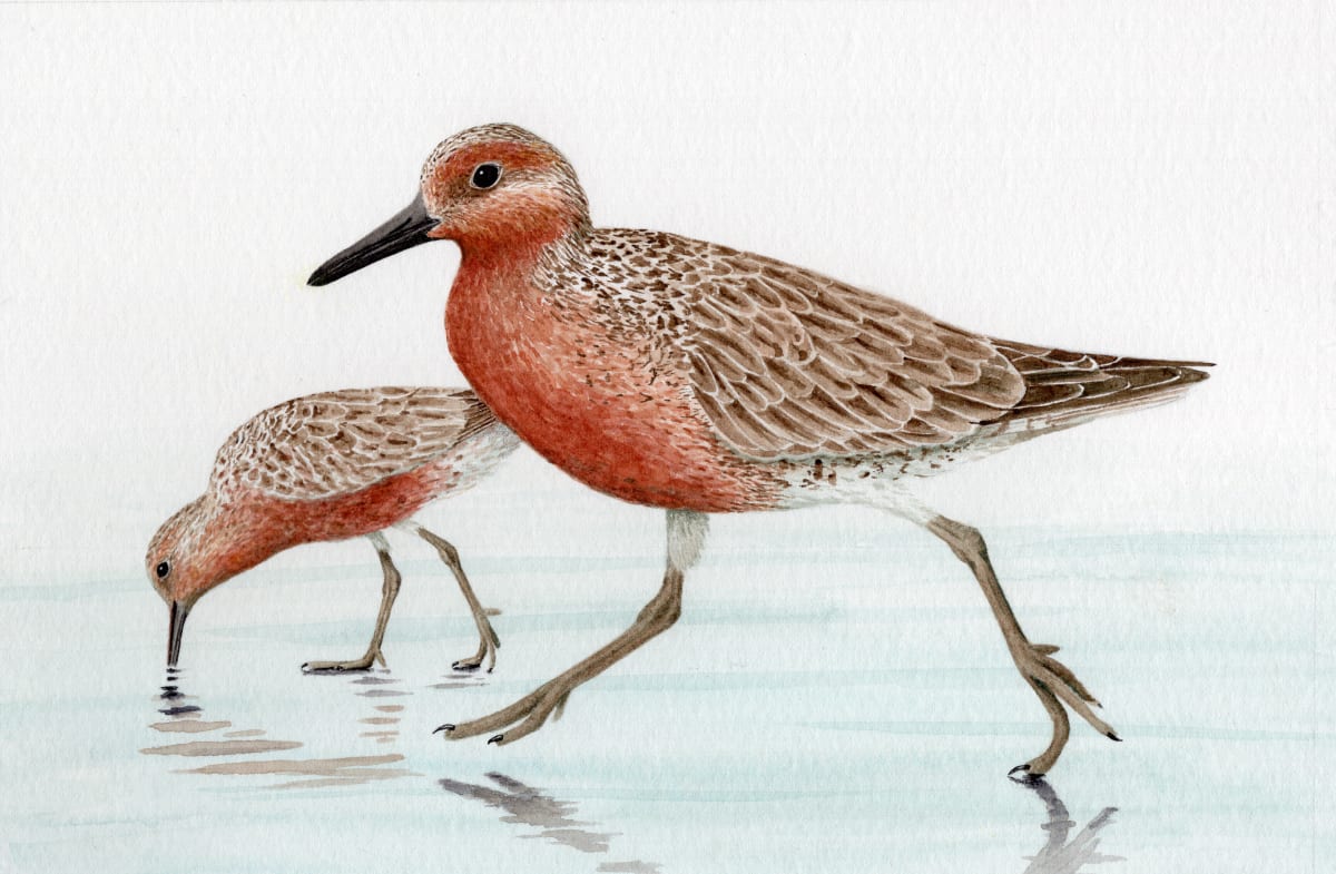
[[[186,617],[206,592],[283,549],[366,536],[383,584],[366,652],[307,662],[305,671],[363,671],[385,664],[381,643],[399,572],[381,533],[401,527],[436,548],[454,572],[478,628],[478,649],[454,667],[496,663],[500,645],[460,555],[413,521],[433,500],[488,476],[516,436],[466,389],[345,389],[307,394],[259,413],[218,450],[208,489],[163,523],[148,544],[148,580],[167,601],[167,664],[175,667]]]

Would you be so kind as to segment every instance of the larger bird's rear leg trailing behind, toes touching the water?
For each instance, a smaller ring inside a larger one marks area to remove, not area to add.
[[[1120,740],[1113,728],[1090,711],[1090,704],[1098,707],[1100,702],[1090,695],[1070,668],[1053,658],[1058,648],[1047,644],[1033,644],[1021,631],[1021,623],[1011,612],[1011,605],[1002,592],[997,573],[993,572],[993,563],[989,561],[989,549],[983,543],[983,536],[977,529],[945,516],[931,516],[925,519],[922,524],[941,537],[957,557],[974,571],[974,576],[983,588],[983,596],[989,600],[989,607],[993,608],[993,615],[998,620],[998,627],[1002,629],[1002,636],[1006,639],[1017,670],[1038,695],[1053,720],[1053,740],[1049,743],[1049,748],[1025,764],[1017,766],[1013,771],[1027,771],[1038,776],[1047,774],[1049,768],[1058,760],[1071,731],[1062,704],[1070,707],[1100,734]]]

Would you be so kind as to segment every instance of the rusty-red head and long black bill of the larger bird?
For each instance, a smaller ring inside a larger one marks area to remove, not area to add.
[[[588,226],[589,204],[561,152],[521,127],[484,124],[437,146],[413,202],[307,282],[327,285],[433,239],[453,239],[468,257],[538,250]]]

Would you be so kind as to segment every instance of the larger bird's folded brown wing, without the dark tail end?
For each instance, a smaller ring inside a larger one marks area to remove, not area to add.
[[[689,302],[691,380],[719,437],[774,461],[946,444],[1026,392],[994,342],[887,297],[711,247]]]

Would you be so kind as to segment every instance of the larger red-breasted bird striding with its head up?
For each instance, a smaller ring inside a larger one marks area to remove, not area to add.
[[[974,572],[1053,723],[1049,747],[1019,768],[1057,760],[1065,707],[1118,739],[1057,647],[1021,631],[979,532],[903,481],[1173,400],[1205,363],[997,339],[762,255],[593,227],[570,163],[510,124],[441,143],[413,202],[310,283],[433,239],[460,246],[446,335],[478,397],[581,482],[668,511],[663,585],[631,628],[510,707],[444,726],[449,736],[517,740],[672,625],[707,513],[859,502],[922,525]]]

